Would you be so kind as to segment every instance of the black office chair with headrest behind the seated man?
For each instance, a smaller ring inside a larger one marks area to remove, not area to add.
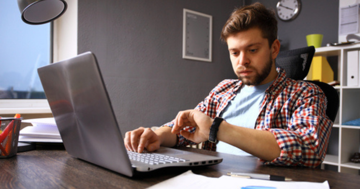
[[[281,67],[285,70],[286,76],[295,80],[303,80],[310,70],[312,57],[315,54],[315,47],[303,47],[289,51],[280,51],[276,57],[276,67]],[[306,80],[316,84],[323,90],[328,104],[326,108],[326,115],[331,121],[335,121],[339,109],[339,94],[337,90],[327,83],[320,81]]]

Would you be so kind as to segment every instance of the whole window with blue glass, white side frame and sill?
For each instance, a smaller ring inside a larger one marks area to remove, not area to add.
[[[56,62],[77,55],[77,0],[66,2],[66,12],[51,26],[24,23],[17,1],[0,0],[0,116],[51,113],[37,68],[51,59]],[[15,92],[16,98],[1,97],[4,92]]]

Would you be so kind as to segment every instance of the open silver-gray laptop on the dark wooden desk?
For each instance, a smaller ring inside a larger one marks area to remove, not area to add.
[[[222,161],[220,157],[165,147],[151,154],[176,157],[175,163],[130,159],[92,52],[43,66],[38,73],[64,147],[76,158],[130,177],[163,167],[214,165]],[[145,154],[135,154],[141,155]]]

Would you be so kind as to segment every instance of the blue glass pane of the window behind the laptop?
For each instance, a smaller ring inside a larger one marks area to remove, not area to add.
[[[0,98],[45,98],[37,68],[51,62],[51,25],[21,20],[17,1],[0,1]]]

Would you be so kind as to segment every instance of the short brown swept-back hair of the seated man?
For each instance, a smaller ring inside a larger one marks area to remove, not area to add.
[[[235,9],[222,28],[221,38],[226,42],[230,35],[255,27],[261,30],[262,37],[267,38],[271,47],[278,37],[278,21],[274,11],[261,3]]]

